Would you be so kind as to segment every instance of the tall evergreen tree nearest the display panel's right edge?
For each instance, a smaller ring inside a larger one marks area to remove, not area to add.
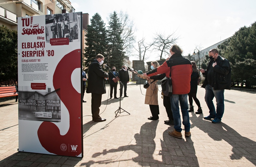
[[[99,13],[93,15],[90,21],[91,25],[88,25],[88,33],[85,35],[87,37],[85,43],[87,47],[84,49],[85,67],[89,67],[97,54],[102,54],[106,59],[107,32],[104,21]]]

